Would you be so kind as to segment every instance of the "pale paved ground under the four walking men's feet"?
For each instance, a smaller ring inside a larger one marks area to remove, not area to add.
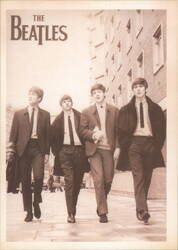
[[[93,189],[81,189],[76,223],[67,223],[64,192],[43,191],[42,216],[24,222],[22,195],[7,194],[7,242],[166,241],[166,201],[149,200],[149,225],[136,219],[132,197],[110,192],[108,223],[99,223]]]

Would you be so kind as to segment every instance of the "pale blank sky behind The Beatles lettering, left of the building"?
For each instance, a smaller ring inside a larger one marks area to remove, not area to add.
[[[33,15],[44,15],[34,21]],[[39,86],[44,90],[40,106],[52,115],[60,111],[63,94],[73,98],[74,108],[82,110],[90,102],[89,20],[82,10],[13,10],[7,11],[7,105],[27,106],[28,90]],[[21,25],[66,25],[65,41],[11,40],[11,16],[21,17]]]

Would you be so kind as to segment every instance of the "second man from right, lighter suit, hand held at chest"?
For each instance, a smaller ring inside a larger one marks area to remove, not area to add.
[[[85,140],[94,181],[97,214],[101,223],[108,222],[107,195],[114,176],[114,160],[119,156],[117,133],[118,109],[105,102],[105,87],[95,84],[91,88],[95,104],[83,110],[80,134]]]

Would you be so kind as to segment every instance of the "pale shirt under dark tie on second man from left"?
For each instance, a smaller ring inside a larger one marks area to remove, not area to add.
[[[75,122],[74,122],[74,112],[73,110],[68,114],[67,112],[64,112],[64,144],[70,145],[70,134],[69,134],[69,124],[68,124],[68,116],[70,115],[71,123],[72,123],[72,131],[74,136],[74,145],[82,145],[80,142],[80,139],[77,135],[76,129],[75,129]]]

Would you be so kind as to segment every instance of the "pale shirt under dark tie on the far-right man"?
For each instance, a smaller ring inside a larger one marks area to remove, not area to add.
[[[140,126],[140,103],[143,104],[143,118],[144,118],[144,127],[141,128]],[[150,118],[148,114],[148,103],[146,101],[146,98],[142,99],[142,101],[139,101],[136,99],[135,101],[136,111],[137,111],[137,127],[134,132],[135,136],[152,136],[152,129],[151,129],[151,123]]]

